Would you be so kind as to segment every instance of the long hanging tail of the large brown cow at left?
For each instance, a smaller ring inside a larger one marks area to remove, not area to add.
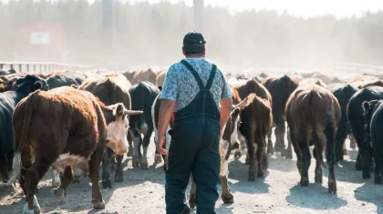
[[[27,99],[26,99],[26,109],[24,112],[24,120],[23,120],[23,127],[21,131],[21,138],[20,141],[18,142],[18,147],[15,150],[15,157],[14,157],[14,163],[13,163],[13,173],[11,178],[9,178],[7,184],[13,185],[16,183],[16,180],[20,178],[20,173],[21,173],[21,168],[23,168],[23,163],[21,160],[21,153],[23,151],[23,148],[26,146],[26,139],[28,137],[28,132],[29,132],[29,126],[30,126],[30,121],[32,117],[32,111],[34,104],[36,103],[35,100],[37,98],[38,91],[32,93]],[[15,126],[15,125],[14,125]],[[14,133],[16,135],[16,133]],[[15,137],[14,137],[15,138]]]

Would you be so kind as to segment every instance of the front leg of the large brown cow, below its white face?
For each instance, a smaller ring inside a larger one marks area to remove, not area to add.
[[[105,158],[105,154],[103,154],[103,150],[104,148],[102,148],[101,146],[98,146],[98,148],[96,148],[92,157],[89,160],[89,177],[92,182],[92,205],[94,209],[105,208],[105,202],[102,199],[101,192],[99,191],[99,186],[98,186],[99,163],[101,162],[101,160],[102,162],[104,162],[104,158]],[[104,171],[104,168],[102,171]],[[104,183],[102,184],[102,186],[104,188]]]

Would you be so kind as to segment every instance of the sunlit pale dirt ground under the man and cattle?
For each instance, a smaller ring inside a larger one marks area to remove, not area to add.
[[[347,141],[347,147],[349,142]],[[351,155],[356,151],[348,148]],[[294,152],[293,152],[294,153]],[[154,144],[150,144],[150,169],[131,167],[131,159],[125,160],[124,182],[115,183],[113,189],[101,189],[106,209],[92,209],[90,180],[81,178],[81,183],[72,184],[66,199],[56,199],[51,190],[50,172],[38,185],[36,194],[42,213],[166,213],[164,201],[164,172],[162,164],[153,165]],[[243,153],[245,154],[245,153]],[[295,154],[294,154],[295,155]],[[355,156],[356,157],[356,156]],[[323,168],[323,184],[314,183],[315,159],[312,159],[310,184],[300,187],[296,158],[286,160],[274,155],[270,158],[265,178],[247,181],[248,166],[245,156],[239,160],[231,157],[230,188],[234,203],[216,203],[219,214],[247,213],[383,213],[382,187],[373,183],[373,178],[363,180],[355,170],[355,160],[346,160],[336,166],[337,195],[327,193],[328,168]],[[187,189],[189,195],[189,189]],[[221,188],[219,188],[221,191]],[[220,192],[221,193],[221,192]],[[25,197],[19,188],[0,185],[0,213],[21,213]],[[195,213],[195,209],[191,213]]]

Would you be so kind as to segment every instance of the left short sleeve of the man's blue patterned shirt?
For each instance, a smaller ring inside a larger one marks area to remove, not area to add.
[[[171,99],[176,101],[178,96],[178,78],[177,69],[171,66],[165,76],[162,91],[160,92],[160,99]]]

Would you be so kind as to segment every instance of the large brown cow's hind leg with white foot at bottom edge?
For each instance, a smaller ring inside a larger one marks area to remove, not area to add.
[[[23,209],[23,214],[39,213],[40,205],[35,196],[38,181],[43,178],[50,168],[51,161],[36,159],[31,168],[26,171],[25,189],[26,189],[26,205]]]

